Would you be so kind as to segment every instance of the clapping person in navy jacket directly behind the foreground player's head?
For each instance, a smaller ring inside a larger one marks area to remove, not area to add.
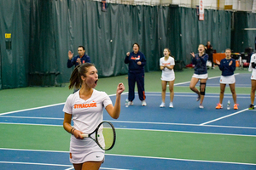
[[[73,65],[77,66],[84,63],[90,63],[90,57],[85,54],[83,46],[79,46],[78,53],[79,55],[73,57],[73,53],[68,51],[67,68],[71,68]]]

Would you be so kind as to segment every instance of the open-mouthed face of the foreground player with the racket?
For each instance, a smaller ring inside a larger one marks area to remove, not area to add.
[[[83,82],[90,88],[96,88],[98,82],[98,71],[95,66],[87,68],[86,77],[82,76]]]

